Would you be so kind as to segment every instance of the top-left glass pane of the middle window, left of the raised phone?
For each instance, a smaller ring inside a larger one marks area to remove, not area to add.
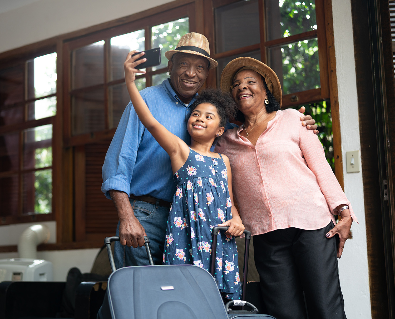
[[[104,41],[71,52],[71,87],[104,83]]]

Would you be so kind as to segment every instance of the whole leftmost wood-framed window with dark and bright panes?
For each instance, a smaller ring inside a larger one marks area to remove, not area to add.
[[[56,53],[44,54],[0,69],[2,217],[52,212],[50,123],[56,115],[56,58]]]

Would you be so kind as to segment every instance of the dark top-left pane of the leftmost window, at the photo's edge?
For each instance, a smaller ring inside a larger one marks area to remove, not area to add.
[[[0,70],[0,107],[24,100],[24,64]]]

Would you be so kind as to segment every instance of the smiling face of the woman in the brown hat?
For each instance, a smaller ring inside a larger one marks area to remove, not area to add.
[[[250,69],[236,73],[231,94],[243,113],[248,109],[253,111],[264,107],[267,94],[262,81],[262,76]]]

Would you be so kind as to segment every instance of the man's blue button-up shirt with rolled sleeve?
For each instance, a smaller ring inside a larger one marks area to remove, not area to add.
[[[189,106],[180,101],[170,85],[162,84],[140,92],[152,115],[171,133],[190,144],[186,130]],[[102,191],[111,199],[109,190],[124,191],[135,196],[150,195],[171,201],[175,193],[169,155],[141,124],[132,102],[129,102],[105,156],[102,169]]]

